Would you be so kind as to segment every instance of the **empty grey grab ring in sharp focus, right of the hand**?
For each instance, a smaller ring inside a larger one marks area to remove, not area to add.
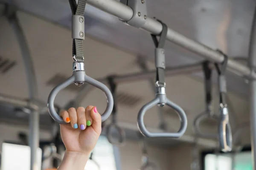
[[[180,116],[180,129],[176,133],[151,133],[149,132],[144,124],[143,118],[145,115],[145,112],[154,107],[155,105],[166,103],[169,107],[173,108],[175,111],[177,111],[178,115]],[[179,138],[182,136],[187,127],[187,117],[186,113],[183,111],[180,106],[176,105],[175,103],[171,102],[169,99],[167,99],[166,95],[160,94],[157,95],[155,99],[153,99],[151,102],[148,102],[145,104],[139,111],[138,117],[137,117],[137,125],[139,127],[140,132],[146,136],[146,137],[172,137],[172,138]]]

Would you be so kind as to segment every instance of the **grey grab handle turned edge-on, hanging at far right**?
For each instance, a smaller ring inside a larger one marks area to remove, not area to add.
[[[227,108],[221,108],[221,121],[218,126],[219,142],[221,151],[229,152],[232,150],[232,131],[228,121]]]

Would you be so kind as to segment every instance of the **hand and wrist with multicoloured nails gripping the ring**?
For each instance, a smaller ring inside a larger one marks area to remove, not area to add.
[[[60,125],[66,152],[58,170],[84,170],[102,130],[101,115],[96,107],[88,106],[62,111],[61,117],[68,124]]]

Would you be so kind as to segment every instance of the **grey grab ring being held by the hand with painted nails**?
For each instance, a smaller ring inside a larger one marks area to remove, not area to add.
[[[105,109],[104,113],[102,113],[102,122],[108,119],[113,109],[113,96],[111,94],[111,91],[103,83],[87,76],[85,74],[85,71],[74,71],[73,75],[70,78],[68,78],[65,82],[57,85],[55,88],[52,89],[51,93],[49,94],[48,104],[47,104],[48,111],[52,116],[52,119],[54,119],[56,122],[60,124],[66,124],[66,122],[64,122],[64,120],[58,115],[58,113],[56,113],[54,109],[54,99],[59,91],[66,88],[68,85],[71,85],[73,82],[87,82],[90,85],[93,85],[96,88],[99,88],[105,93],[107,97],[107,108]]]

